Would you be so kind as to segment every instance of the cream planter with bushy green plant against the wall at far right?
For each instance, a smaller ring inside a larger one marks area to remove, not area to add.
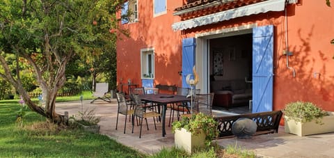
[[[334,132],[334,113],[324,111],[312,102],[290,102],[283,113],[287,133],[306,136]]]

